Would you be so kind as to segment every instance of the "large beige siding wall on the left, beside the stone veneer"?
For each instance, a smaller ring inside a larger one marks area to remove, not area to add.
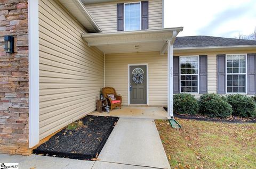
[[[81,38],[84,28],[58,1],[39,1],[39,137],[95,110],[103,54]]]

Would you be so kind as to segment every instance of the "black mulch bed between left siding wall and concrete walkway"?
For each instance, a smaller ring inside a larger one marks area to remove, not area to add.
[[[35,154],[73,159],[97,158],[118,117],[87,115],[84,125],[75,130],[62,129],[34,150]]]

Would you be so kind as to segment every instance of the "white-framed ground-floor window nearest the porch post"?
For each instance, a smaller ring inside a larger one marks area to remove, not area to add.
[[[180,56],[180,92],[198,93],[198,56]]]

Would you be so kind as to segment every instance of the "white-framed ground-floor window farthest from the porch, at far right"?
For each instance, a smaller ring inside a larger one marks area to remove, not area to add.
[[[226,55],[227,93],[246,92],[246,54]]]

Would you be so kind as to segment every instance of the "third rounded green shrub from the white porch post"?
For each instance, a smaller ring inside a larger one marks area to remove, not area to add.
[[[232,106],[232,114],[241,117],[256,116],[256,103],[253,98],[241,94],[228,95],[228,103]]]

